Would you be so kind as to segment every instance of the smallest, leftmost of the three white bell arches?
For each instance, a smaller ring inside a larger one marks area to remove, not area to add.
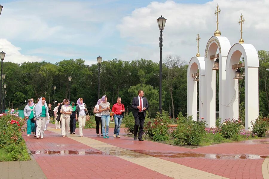
[[[197,111],[197,82],[193,81],[193,73],[199,70],[199,119],[205,114],[204,93],[205,93],[205,63],[204,57],[192,57],[187,69],[187,115],[192,115],[192,120],[196,121]]]

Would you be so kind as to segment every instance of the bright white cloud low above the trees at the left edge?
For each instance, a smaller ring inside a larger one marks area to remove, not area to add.
[[[4,53],[6,53],[4,61],[10,61],[19,64],[25,61],[42,61],[42,58],[37,56],[22,55],[19,50],[21,50],[20,47],[14,46],[10,41],[7,41],[7,39],[0,38],[0,51],[4,51]]]

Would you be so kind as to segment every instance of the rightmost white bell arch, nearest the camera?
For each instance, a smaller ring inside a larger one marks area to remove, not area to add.
[[[245,130],[249,130],[251,121],[259,115],[259,57],[252,44],[234,44],[227,55],[227,118],[239,118],[239,87],[238,81],[233,79],[236,69],[232,65],[238,64],[242,55],[245,67]]]

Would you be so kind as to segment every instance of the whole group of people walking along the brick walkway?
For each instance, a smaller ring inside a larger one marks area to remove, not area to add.
[[[143,125],[146,116],[146,110],[149,108],[147,99],[143,97],[144,92],[138,91],[138,97],[133,98],[132,108],[134,109],[135,117],[135,136],[134,140],[142,140]],[[44,131],[47,130],[50,118],[55,117],[55,128],[61,129],[62,137],[67,137],[68,129],[70,134],[75,134],[76,123],[79,123],[79,135],[83,137],[83,129],[85,127],[88,110],[86,104],[83,102],[83,98],[78,98],[77,103],[71,102],[69,99],[64,99],[62,103],[58,103],[57,107],[51,109],[51,104],[46,103],[45,97],[37,99],[37,103],[34,103],[34,99],[28,99],[27,105],[24,108],[24,116],[27,124],[27,136],[31,133],[36,139],[44,138]],[[113,137],[120,138],[120,126],[123,120],[125,107],[121,103],[121,98],[117,98],[117,103],[110,108],[110,103],[106,95],[98,99],[97,104],[94,107],[95,121],[96,121],[96,134],[100,137],[99,125],[101,125],[101,136],[103,138],[109,138],[109,122],[114,118],[114,132]]]

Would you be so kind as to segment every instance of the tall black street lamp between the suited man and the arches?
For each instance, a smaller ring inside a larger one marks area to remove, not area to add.
[[[165,22],[166,22],[166,18],[164,18],[163,16],[159,17],[157,19],[158,22],[158,26],[160,31],[160,43],[159,43],[159,47],[160,47],[160,74],[159,74],[159,78],[160,78],[160,84],[159,84],[159,112],[160,114],[162,114],[162,48],[163,48],[163,29],[165,26]]]

